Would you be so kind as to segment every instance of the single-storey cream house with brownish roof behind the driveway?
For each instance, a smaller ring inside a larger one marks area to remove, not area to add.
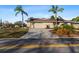
[[[31,18],[29,21],[27,21],[27,26],[29,28],[53,28],[55,23],[56,23],[55,20],[50,20],[46,18]],[[79,28],[79,23],[74,21],[58,20],[57,23],[58,23],[58,26],[65,23],[69,25],[73,24],[75,28]]]

